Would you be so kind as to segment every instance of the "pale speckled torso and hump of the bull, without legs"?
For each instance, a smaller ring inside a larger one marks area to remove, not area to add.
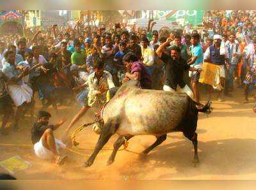
[[[129,81],[104,108],[104,123],[118,119],[118,135],[163,135],[177,131],[188,110],[189,97],[181,92],[138,88]]]

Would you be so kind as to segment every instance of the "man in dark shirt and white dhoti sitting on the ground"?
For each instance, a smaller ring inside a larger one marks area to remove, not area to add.
[[[56,164],[62,165],[67,161],[67,156],[60,156],[59,149],[66,145],[54,138],[53,131],[58,129],[67,119],[63,118],[55,125],[48,125],[51,114],[44,111],[38,112],[38,121],[31,129],[31,140],[36,156],[41,159],[55,159]]]

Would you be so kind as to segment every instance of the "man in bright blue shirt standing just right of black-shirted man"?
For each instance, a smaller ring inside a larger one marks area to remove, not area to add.
[[[198,33],[193,33],[191,38],[192,45],[190,47],[192,58],[190,59],[188,64],[195,69],[202,68],[202,63],[204,61],[203,48],[200,45],[199,40],[200,35]],[[189,71],[189,77],[191,77],[191,87],[195,96],[195,101],[199,103],[200,97],[198,91],[198,80],[200,77],[200,72]]]

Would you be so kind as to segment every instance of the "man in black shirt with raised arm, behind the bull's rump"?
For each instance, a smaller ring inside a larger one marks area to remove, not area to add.
[[[179,85],[182,92],[188,94],[188,96],[194,99],[193,92],[189,89],[188,85],[185,84],[183,76],[184,71],[197,71],[200,73],[201,69],[193,68],[187,64],[187,62],[180,57],[180,48],[173,45],[168,48],[170,54],[165,54],[164,48],[170,45],[172,41],[171,38],[168,38],[165,43],[159,46],[156,50],[156,54],[160,59],[165,63],[165,78],[164,78],[164,91],[177,91],[177,85]]]

